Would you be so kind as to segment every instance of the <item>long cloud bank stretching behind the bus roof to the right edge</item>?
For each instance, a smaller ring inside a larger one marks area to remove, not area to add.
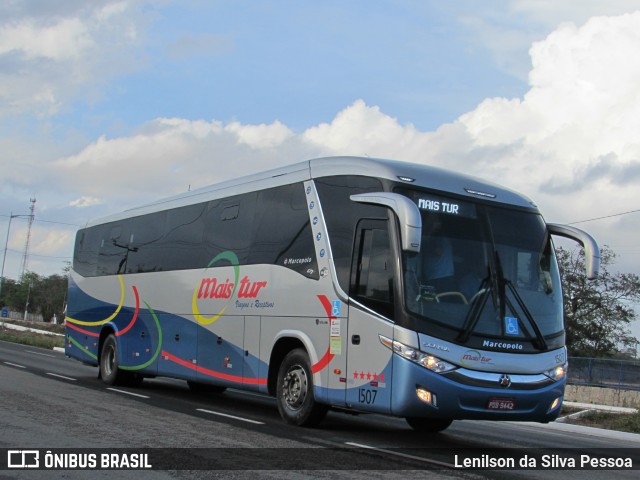
[[[67,203],[105,213],[308,158],[353,154],[507,185],[533,198],[549,221],[631,211],[639,207],[639,44],[640,12],[562,24],[531,46],[524,95],[485,99],[435,131],[363,99],[300,132],[279,121],[158,118],[126,136],[101,136],[40,175],[67,192]],[[615,247],[624,226],[637,244],[640,226],[631,220],[584,227]]]

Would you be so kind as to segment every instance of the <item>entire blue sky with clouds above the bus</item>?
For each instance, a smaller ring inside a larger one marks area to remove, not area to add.
[[[327,155],[465,172],[640,274],[640,0],[5,0],[5,276],[79,226]],[[12,218],[8,230],[9,217]]]

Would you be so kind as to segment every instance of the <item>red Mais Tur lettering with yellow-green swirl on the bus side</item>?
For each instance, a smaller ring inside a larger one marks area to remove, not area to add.
[[[201,325],[208,325],[218,320],[224,314],[232,299],[257,298],[260,291],[267,286],[267,282],[254,282],[248,275],[240,278],[240,261],[232,251],[216,255],[205,268],[205,272],[208,268],[222,261],[226,261],[233,267],[233,279],[225,278],[220,280],[216,277],[205,277],[193,291],[191,310],[196,321]],[[226,302],[218,313],[207,317],[200,313],[200,308],[198,307],[199,301],[202,302],[204,300],[226,300]]]

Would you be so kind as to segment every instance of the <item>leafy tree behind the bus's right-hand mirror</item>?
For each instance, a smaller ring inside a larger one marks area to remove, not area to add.
[[[640,277],[611,273],[616,254],[604,246],[596,280],[584,275],[584,251],[557,249],[564,295],[567,348],[571,355],[612,357],[638,340],[628,325],[635,320],[633,303],[640,301]]]

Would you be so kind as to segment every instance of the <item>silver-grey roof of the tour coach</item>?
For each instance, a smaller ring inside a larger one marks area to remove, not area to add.
[[[334,175],[364,175],[383,178],[406,183],[407,187],[426,187],[501,204],[525,208],[536,207],[530,199],[513,190],[451,170],[397,160],[340,156],[306,160],[226,180],[96,219],[89,222],[87,226]]]

